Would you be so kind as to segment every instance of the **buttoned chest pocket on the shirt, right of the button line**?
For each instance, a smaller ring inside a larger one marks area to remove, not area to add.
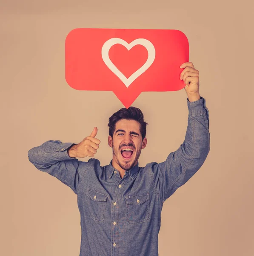
[[[150,218],[149,199],[149,193],[126,196],[125,202],[128,224],[132,225],[148,221]]]

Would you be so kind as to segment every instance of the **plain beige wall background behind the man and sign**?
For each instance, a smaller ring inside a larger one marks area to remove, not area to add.
[[[68,186],[28,160],[46,140],[79,143],[94,126],[96,158],[110,162],[112,92],[65,81],[65,38],[75,28],[178,29],[200,71],[211,151],[163,205],[160,256],[253,256],[253,1],[1,1],[1,255],[77,256],[80,213]],[[141,93],[132,104],[149,123],[140,166],[162,162],[183,143],[187,96]],[[154,102],[151,104],[151,102]],[[89,158],[82,159],[88,160]]]

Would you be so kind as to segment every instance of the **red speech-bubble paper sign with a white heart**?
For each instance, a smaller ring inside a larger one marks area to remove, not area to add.
[[[186,35],[171,29],[74,29],[66,37],[66,81],[113,91],[126,108],[141,92],[176,91],[188,62]]]

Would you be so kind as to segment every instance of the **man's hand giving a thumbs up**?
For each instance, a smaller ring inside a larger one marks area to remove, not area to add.
[[[100,140],[95,138],[97,132],[97,127],[94,127],[90,136],[86,137],[79,144],[72,145],[68,148],[67,153],[69,157],[94,157],[100,144]]]

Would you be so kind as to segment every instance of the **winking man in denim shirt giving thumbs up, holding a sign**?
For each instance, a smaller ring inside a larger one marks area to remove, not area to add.
[[[94,157],[97,128],[79,144],[49,140],[31,148],[34,166],[57,177],[76,194],[81,215],[80,256],[156,256],[163,203],[203,165],[210,150],[209,115],[199,95],[199,71],[191,62],[180,79],[188,95],[188,127],[177,151],[163,163],[138,166],[146,147],[146,125],[138,108],[122,108],[109,118],[109,165]],[[166,132],[167,129],[164,129]]]

